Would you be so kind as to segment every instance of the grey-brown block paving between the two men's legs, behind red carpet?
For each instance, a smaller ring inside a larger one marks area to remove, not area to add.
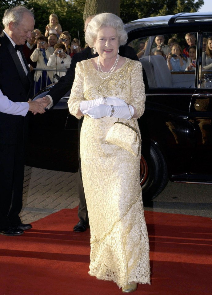
[[[78,204],[77,173],[25,166],[22,222],[30,223]]]

